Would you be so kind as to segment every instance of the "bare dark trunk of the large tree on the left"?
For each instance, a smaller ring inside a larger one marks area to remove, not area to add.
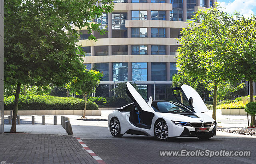
[[[16,119],[18,114],[18,105],[19,105],[19,99],[20,99],[20,82],[17,84],[15,98],[14,98],[14,106],[13,106],[13,114],[12,114],[12,133],[16,132]]]

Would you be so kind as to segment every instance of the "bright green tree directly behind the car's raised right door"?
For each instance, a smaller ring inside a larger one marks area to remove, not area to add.
[[[190,28],[182,29],[182,36],[178,39],[182,45],[178,49],[178,71],[198,78],[201,82],[214,84],[214,119],[218,85],[224,80],[238,82],[241,79],[240,74],[230,69],[236,61],[229,58],[230,50],[227,48],[227,44],[232,43],[229,36],[234,24],[233,16],[222,12],[215,5],[208,10],[199,10],[194,21],[190,21]]]

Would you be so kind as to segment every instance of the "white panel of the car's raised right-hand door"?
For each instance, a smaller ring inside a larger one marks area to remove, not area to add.
[[[208,111],[201,96],[198,94],[198,92],[196,92],[196,90],[194,90],[194,88],[192,88],[191,86],[185,85],[185,84],[183,84],[180,88],[183,90],[184,94],[186,95],[186,97],[188,99],[190,97],[193,98],[192,107],[195,112],[207,112]]]

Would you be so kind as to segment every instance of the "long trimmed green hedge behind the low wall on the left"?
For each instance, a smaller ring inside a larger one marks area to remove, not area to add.
[[[4,98],[4,110],[13,110],[14,95]],[[49,95],[20,95],[18,110],[83,110],[84,100]],[[98,110],[95,102],[87,101],[86,109]]]

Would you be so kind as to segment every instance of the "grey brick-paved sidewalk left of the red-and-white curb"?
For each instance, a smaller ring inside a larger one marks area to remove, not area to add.
[[[98,163],[76,138],[49,134],[0,134],[0,163]]]

